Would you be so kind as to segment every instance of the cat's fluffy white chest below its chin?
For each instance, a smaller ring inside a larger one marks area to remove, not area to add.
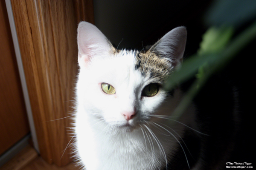
[[[118,133],[113,129],[102,133],[87,127],[83,135],[86,138],[77,136],[81,159],[87,170],[159,169],[168,159],[170,144],[164,144],[160,136],[153,133],[146,130]]]

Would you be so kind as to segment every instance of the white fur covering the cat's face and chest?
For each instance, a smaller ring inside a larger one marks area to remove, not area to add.
[[[180,91],[177,89],[175,96],[169,98],[161,90],[153,97],[142,97],[142,90],[151,79],[135,70],[134,52],[111,53],[108,40],[97,33],[95,26],[84,22],[81,25],[97,40],[86,47],[81,43],[79,46],[75,133],[80,163],[86,170],[158,170],[166,166],[184,126],[173,122],[169,127],[168,119],[149,115],[171,116],[182,96]],[[78,41],[87,44],[88,36],[83,31],[79,36]],[[104,53],[95,52],[103,48]],[[105,94],[102,82],[112,85],[116,94]],[[137,114],[128,122],[122,113],[134,108]],[[188,124],[192,120],[193,114],[187,111],[180,122]]]

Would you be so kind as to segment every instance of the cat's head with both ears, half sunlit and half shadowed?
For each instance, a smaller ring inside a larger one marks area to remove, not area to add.
[[[87,114],[124,129],[150,121],[160,105],[166,110],[160,114],[169,115],[172,106],[165,100],[173,96],[162,85],[182,62],[185,45],[186,28],[177,27],[148,50],[119,50],[96,26],[81,22],[79,105]]]

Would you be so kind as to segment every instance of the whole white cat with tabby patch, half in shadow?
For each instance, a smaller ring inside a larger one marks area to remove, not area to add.
[[[75,150],[86,170],[226,168],[228,156],[213,152],[217,140],[205,144],[215,136],[210,128],[203,130],[210,127],[211,112],[198,118],[200,109],[192,103],[174,121],[183,91],[163,90],[166,78],[182,64],[186,37],[181,26],[148,49],[125,50],[114,48],[93,24],[79,23]],[[220,150],[230,142],[221,144]]]

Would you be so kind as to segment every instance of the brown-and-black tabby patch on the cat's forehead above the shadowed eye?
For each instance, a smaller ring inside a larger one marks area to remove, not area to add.
[[[136,52],[135,69],[139,70],[143,77],[150,77],[156,82],[163,83],[171,70],[171,62],[159,57],[154,51]]]

